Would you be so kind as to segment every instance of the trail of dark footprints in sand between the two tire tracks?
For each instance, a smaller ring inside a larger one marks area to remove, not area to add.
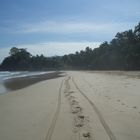
[[[74,121],[74,134],[75,140],[93,140],[93,135],[90,130],[90,121],[88,116],[85,114],[82,106],[79,104],[78,99],[76,98],[75,94],[78,93],[72,90],[69,81],[71,77],[68,77],[65,80],[65,97],[68,100],[68,103],[71,107],[71,113],[73,114],[73,121]],[[81,95],[82,96],[82,95]]]

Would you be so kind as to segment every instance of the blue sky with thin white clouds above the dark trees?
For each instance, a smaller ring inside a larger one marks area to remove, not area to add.
[[[64,55],[98,47],[140,22],[140,0],[0,0],[0,62],[11,47]]]

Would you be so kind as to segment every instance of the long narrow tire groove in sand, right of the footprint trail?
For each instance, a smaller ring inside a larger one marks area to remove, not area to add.
[[[100,111],[98,110],[98,108],[96,107],[96,105],[85,95],[85,93],[78,87],[78,85],[76,84],[76,82],[74,81],[73,77],[72,77],[72,81],[75,85],[75,87],[77,88],[77,90],[83,95],[83,97],[89,102],[89,104],[92,106],[93,110],[96,112],[102,126],[104,127],[107,135],[109,136],[110,140],[116,140],[115,135],[113,134],[113,132],[111,131],[111,129],[109,128],[108,124],[106,123],[106,121],[104,120],[102,114],[100,113]]]

